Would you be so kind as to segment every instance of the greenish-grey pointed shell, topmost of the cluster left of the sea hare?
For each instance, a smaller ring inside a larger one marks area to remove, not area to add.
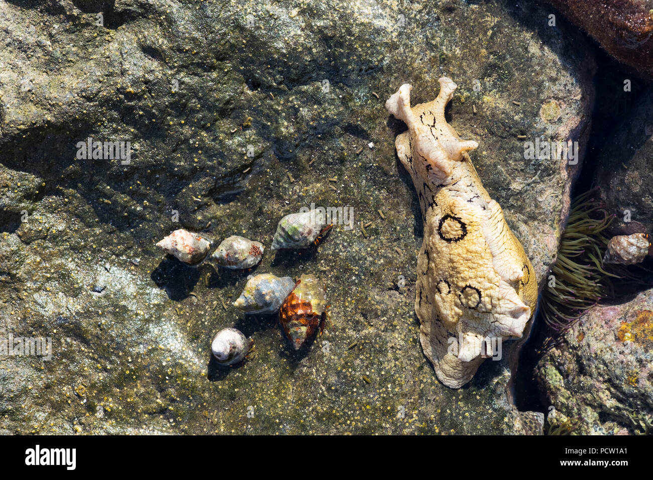
[[[272,249],[308,248],[327,226],[321,210],[290,214],[279,220],[272,238]]]

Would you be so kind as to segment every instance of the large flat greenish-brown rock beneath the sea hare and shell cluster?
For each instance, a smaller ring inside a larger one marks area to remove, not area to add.
[[[422,355],[419,205],[383,104],[404,82],[426,101],[456,80],[450,121],[479,142],[472,160],[541,281],[577,166],[524,159],[524,142],[584,144],[593,66],[573,31],[528,2],[104,5],[0,3],[0,336],[54,342],[49,361],[0,356],[0,428],[524,432],[532,415],[505,395],[512,343],[457,391]],[[79,159],[89,137],[131,142],[129,164]],[[352,207],[355,228],[255,270],[327,280],[330,320],[300,355],[274,318],[231,306],[246,273],[155,248],[178,228],[269,246],[311,202]],[[255,351],[220,370],[210,340],[230,326]]]

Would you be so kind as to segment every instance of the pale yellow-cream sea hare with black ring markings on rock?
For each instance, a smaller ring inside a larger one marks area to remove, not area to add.
[[[458,388],[492,355],[486,345],[522,336],[535,312],[537,280],[471,164],[467,152],[478,144],[461,140],[445,120],[456,84],[439,84],[430,103],[411,108],[411,86],[404,84],[385,107],[408,125],[395,146],[424,221],[415,296],[422,348],[438,379]]]

